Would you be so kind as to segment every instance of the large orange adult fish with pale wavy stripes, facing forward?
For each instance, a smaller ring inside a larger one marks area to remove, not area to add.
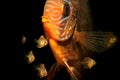
[[[90,52],[102,52],[117,40],[112,32],[92,30],[88,0],[46,0],[42,23],[56,63],[47,80],[53,80],[58,69],[67,69],[72,80],[83,79],[86,68],[95,64]]]

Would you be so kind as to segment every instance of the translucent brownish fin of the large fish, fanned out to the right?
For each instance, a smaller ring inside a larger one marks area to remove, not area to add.
[[[117,42],[117,37],[112,32],[77,32],[75,31],[74,39],[81,46],[93,52],[103,52],[112,47]]]

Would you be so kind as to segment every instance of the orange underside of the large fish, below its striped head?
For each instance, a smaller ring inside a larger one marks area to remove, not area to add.
[[[82,51],[80,52],[75,41],[70,39],[67,42],[61,43],[50,39],[49,44],[57,60],[57,63],[66,67],[70,75],[75,80],[82,79],[83,67],[81,66],[81,62],[83,58],[88,55],[84,55],[84,52]],[[51,79],[48,77],[47,80]]]

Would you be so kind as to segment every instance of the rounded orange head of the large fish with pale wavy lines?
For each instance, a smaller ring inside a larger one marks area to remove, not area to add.
[[[78,0],[47,0],[42,23],[48,38],[56,41],[68,40],[76,25],[76,3]]]

